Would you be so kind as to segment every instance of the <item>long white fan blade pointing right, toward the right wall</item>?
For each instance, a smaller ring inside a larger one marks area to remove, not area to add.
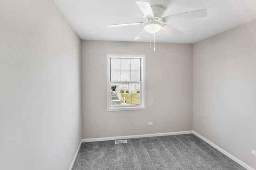
[[[172,16],[166,16],[162,18],[163,22],[171,22],[171,21],[180,21],[180,20],[188,20],[188,19],[193,19],[193,18],[202,18],[207,16],[207,11],[206,9],[202,10],[196,10],[196,11],[190,11],[190,12],[185,12],[181,14],[176,14]]]

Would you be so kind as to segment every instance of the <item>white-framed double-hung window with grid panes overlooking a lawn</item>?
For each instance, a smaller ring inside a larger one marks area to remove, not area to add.
[[[145,55],[107,55],[107,111],[146,109]]]

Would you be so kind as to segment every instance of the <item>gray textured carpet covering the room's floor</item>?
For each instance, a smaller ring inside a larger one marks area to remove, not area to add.
[[[193,134],[82,143],[72,170],[245,170]]]

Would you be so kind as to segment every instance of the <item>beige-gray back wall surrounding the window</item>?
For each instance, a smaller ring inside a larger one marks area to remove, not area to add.
[[[192,130],[192,45],[82,40],[82,137]],[[106,54],[146,55],[146,110],[110,111]],[[154,125],[148,125],[153,121]]]

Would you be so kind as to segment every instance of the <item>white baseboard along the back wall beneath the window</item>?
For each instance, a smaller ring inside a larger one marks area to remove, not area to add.
[[[154,133],[154,134],[145,134],[145,135],[130,135],[130,136],[119,136],[119,137],[102,137],[102,138],[82,139],[82,142],[111,141],[111,140],[132,139],[132,138],[142,138],[142,137],[182,135],[182,134],[191,134],[191,133],[192,133],[192,131],[180,131],[180,132]]]

